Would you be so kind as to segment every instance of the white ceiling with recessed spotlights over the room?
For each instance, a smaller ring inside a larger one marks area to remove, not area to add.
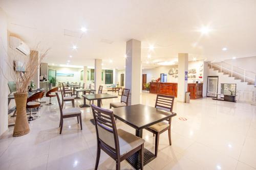
[[[177,60],[178,53],[208,61],[256,56],[255,0],[0,0],[0,7],[12,34],[29,46],[40,41],[51,47],[49,63],[93,66],[97,58],[103,67],[122,69],[125,42],[132,38],[142,42],[144,68],[156,60]],[[201,35],[202,26],[212,31]],[[64,30],[81,37],[65,36]]]

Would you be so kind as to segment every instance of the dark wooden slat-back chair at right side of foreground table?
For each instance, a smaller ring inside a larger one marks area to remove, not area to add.
[[[155,108],[165,110],[168,112],[172,112],[173,105],[174,105],[174,98],[175,98],[175,96],[157,94]],[[160,122],[160,123],[152,125],[148,128],[145,128],[146,130],[148,130],[148,131],[152,132],[154,135],[156,135],[156,138],[155,138],[155,155],[156,156],[157,156],[157,152],[158,152],[159,135],[161,133],[168,130],[169,144],[172,145],[172,140],[170,137],[170,124],[172,122],[172,118],[167,119],[167,121],[168,121],[168,123]]]

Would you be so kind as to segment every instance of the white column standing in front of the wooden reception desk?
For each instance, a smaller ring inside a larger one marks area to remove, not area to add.
[[[178,101],[185,102],[185,92],[187,91],[187,79],[185,80],[185,71],[188,67],[188,54],[178,54]]]

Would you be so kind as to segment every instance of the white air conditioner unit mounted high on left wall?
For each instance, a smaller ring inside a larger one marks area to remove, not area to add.
[[[17,37],[10,36],[9,44],[12,49],[16,49],[17,51],[25,54],[26,56],[30,54],[29,46]]]

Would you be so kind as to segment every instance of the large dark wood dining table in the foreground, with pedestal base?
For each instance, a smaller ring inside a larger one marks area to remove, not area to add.
[[[136,130],[136,136],[140,138],[142,138],[143,129],[177,115],[174,112],[167,112],[141,104],[112,108],[111,110],[113,110],[114,116],[117,119],[133,127]],[[155,158],[155,154],[144,149],[144,165]],[[140,169],[139,159],[139,153],[135,153],[127,158],[127,161],[136,169]]]

